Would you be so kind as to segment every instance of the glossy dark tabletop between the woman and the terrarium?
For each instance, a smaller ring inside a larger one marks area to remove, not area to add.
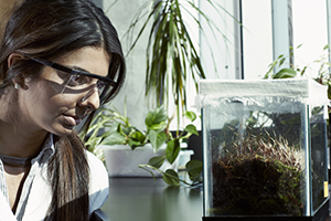
[[[109,186],[102,208],[109,221],[202,221],[202,188],[170,187],[161,178],[110,178]]]

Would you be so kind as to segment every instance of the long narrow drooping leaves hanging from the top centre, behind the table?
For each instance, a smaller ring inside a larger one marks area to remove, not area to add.
[[[139,39],[142,38],[142,33],[149,34],[146,48],[146,95],[153,95],[158,105],[169,106],[169,102],[173,101],[178,127],[181,117],[180,112],[186,110],[185,86],[188,77],[192,77],[196,91],[197,78],[205,78],[199,51],[192,40],[183,13],[195,22],[202,33],[204,30],[195,14],[206,21],[214,38],[214,31],[221,33],[217,25],[193,1],[188,1],[185,6],[180,2],[180,0],[148,0],[137,10],[125,34],[130,41],[128,53],[135,49]],[[206,0],[206,2],[215,11],[224,11],[226,15],[237,21],[217,1]],[[142,25],[136,30],[140,22]],[[227,41],[226,36],[222,35]],[[212,57],[214,57],[213,54]],[[213,62],[215,63],[215,61]],[[172,97],[169,97],[169,94]]]

